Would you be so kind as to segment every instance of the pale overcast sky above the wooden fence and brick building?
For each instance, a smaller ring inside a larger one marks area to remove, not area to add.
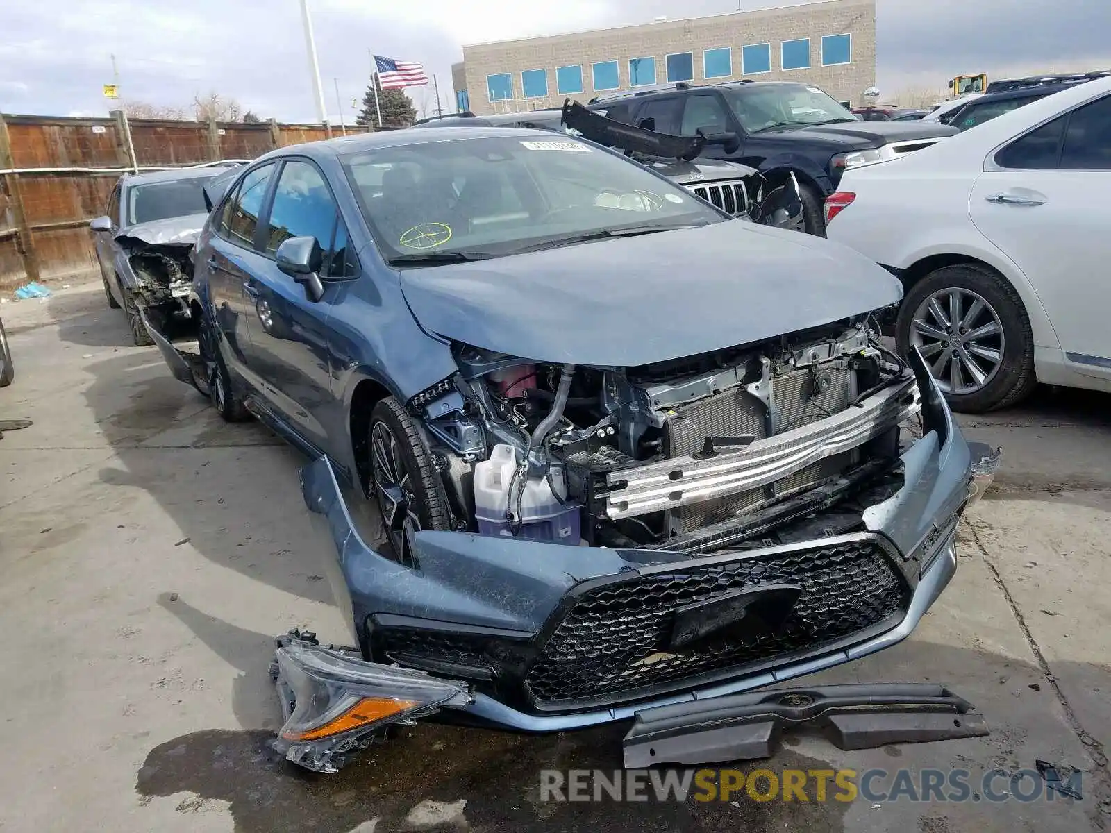
[[[745,9],[787,4],[741,0]],[[298,0],[0,0],[0,111],[101,116],[110,54],[126,98],[186,107],[218,91],[280,121],[314,121]],[[1111,66],[1108,0],[877,0],[884,92],[961,72]],[[368,50],[423,61],[453,108],[461,44],[735,10],[735,0],[310,0],[329,117],[354,118]],[[414,11],[419,10],[418,20]],[[418,106],[428,92],[411,91]]]

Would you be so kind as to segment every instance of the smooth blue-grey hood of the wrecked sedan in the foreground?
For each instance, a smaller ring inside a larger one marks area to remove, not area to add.
[[[536,361],[637,367],[888,307],[900,283],[821,238],[725,221],[404,269],[427,331]]]

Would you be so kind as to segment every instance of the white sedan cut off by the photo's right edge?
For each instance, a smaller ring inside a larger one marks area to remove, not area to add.
[[[898,274],[899,350],[982,412],[1038,382],[1111,391],[1111,78],[845,172],[831,240]]]

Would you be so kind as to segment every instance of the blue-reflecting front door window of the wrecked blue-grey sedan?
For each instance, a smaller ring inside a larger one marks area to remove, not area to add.
[[[320,169],[312,162],[291,159],[282,167],[274,188],[267,221],[267,252],[277,253],[278,247],[289,238],[313,237],[324,255],[321,275],[343,277],[347,231],[337,233],[337,219],[336,201]]]

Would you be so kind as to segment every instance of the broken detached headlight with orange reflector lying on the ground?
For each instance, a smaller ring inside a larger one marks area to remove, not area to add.
[[[293,636],[278,640],[276,684],[286,724],[274,747],[316,772],[338,772],[344,753],[369,746],[383,726],[473,702],[467,683],[366,662]]]

